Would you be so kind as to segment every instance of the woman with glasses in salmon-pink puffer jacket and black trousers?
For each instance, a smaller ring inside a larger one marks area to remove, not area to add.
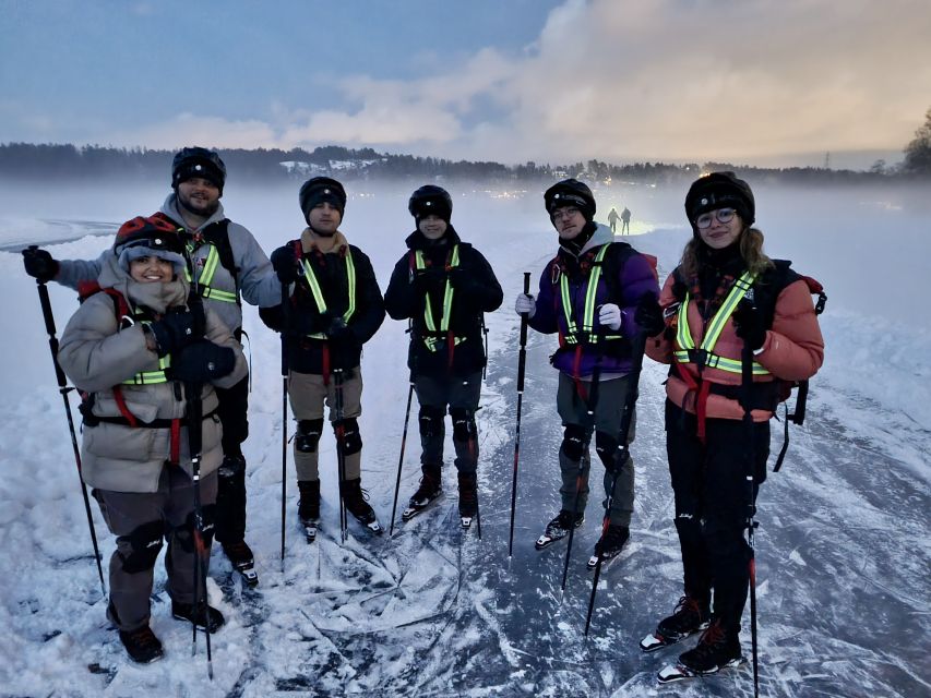
[[[696,180],[685,214],[692,239],[682,260],[659,304],[636,314],[655,336],[647,354],[670,364],[666,449],[684,571],[675,613],[641,647],[659,649],[704,630],[679,658],[687,675],[700,675],[741,661],[751,558],[744,530],[766,479],[778,382],[814,375],[824,340],[805,281],[763,253],[747,182],[732,172]],[[742,385],[744,349],[752,350],[749,386]],[[742,421],[748,388],[752,421]]]

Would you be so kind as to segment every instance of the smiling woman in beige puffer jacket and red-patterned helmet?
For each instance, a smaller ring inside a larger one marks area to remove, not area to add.
[[[61,337],[61,368],[87,394],[81,458],[107,527],[110,557],[107,617],[130,658],[163,655],[148,626],[155,561],[165,567],[176,618],[215,631],[224,624],[194,582],[195,550],[210,564],[217,469],[223,460],[215,387],[246,375],[239,342],[211,309],[189,300],[184,245],[157,214],[133,218],[100,260],[99,292],[74,313]],[[196,298],[196,297],[194,297]],[[192,481],[188,389],[196,386],[203,420],[200,485]],[[195,541],[194,488],[200,486],[203,541]]]

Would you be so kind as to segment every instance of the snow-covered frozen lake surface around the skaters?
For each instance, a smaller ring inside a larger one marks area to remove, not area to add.
[[[821,280],[825,365],[812,381],[803,428],[791,429],[784,469],[769,473],[756,535],[761,693],[767,696],[912,697],[931,694],[931,320],[927,276],[929,210],[920,193],[859,189],[768,189],[752,182],[771,256]],[[416,184],[411,184],[413,189]],[[408,188],[350,183],[342,229],[375,266],[382,287],[413,229]],[[297,189],[227,186],[224,205],[266,251],[301,228]],[[598,538],[598,498],[573,544],[561,599],[564,544],[534,540],[557,510],[560,441],[554,339],[530,333],[523,404],[514,556],[508,559],[518,320],[511,300],[523,272],[556,248],[541,191],[493,198],[451,184],[453,222],[489,258],[505,290],[490,314],[491,352],[478,413],[482,539],[463,531],[454,468],[446,493],[409,522],[401,509],[419,478],[411,420],[395,533],[374,537],[355,521],[339,544],[335,445],[321,441],[323,507],[315,543],[297,515],[288,462],[287,550],[279,559],[281,374],[276,335],[246,306],[252,360],[247,540],[260,586],[250,590],[215,546],[211,602],[227,617],[213,637],[215,679],[203,636],[191,657],[190,626],[170,617],[157,566],[152,625],[166,658],[132,665],[104,616],[97,569],[58,394],[35,281],[16,250],[48,244],[56,257],[96,256],[123,220],[148,214],[166,188],[86,185],[0,192],[0,694],[10,696],[748,696],[749,664],[660,689],[656,672],[679,648],[643,654],[637,640],[671,612],[681,566],[672,526],[661,423],[665,369],[646,362],[632,453],[637,473],[631,542],[606,570],[592,630],[585,561]],[[691,231],[685,186],[596,192],[599,218],[628,203],[640,250],[658,256],[661,278]],[[466,195],[462,195],[465,192]],[[927,196],[924,196],[927,198]],[[923,207],[922,207],[923,206]],[[106,234],[94,234],[106,233]],[[67,242],[60,242],[68,240]],[[56,244],[52,244],[56,243]],[[74,293],[49,286],[59,336]],[[363,485],[389,527],[404,405],[407,335],[386,320],[363,357],[360,419]],[[71,396],[76,416],[76,399]],[[415,405],[413,410],[417,409]],[[289,424],[294,432],[294,424]],[[781,424],[773,423],[773,450]],[[447,454],[451,454],[451,447]],[[772,457],[771,457],[772,462]],[[599,466],[596,464],[597,470]],[[93,508],[104,559],[112,537]],[[105,563],[106,564],[106,563]],[[105,567],[106,569],[106,567]],[[691,642],[691,641],[690,641]],[[750,653],[749,610],[742,636]]]

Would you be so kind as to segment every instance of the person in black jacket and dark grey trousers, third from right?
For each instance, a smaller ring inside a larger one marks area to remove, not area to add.
[[[395,265],[385,292],[389,315],[410,321],[407,365],[420,402],[422,478],[402,518],[416,516],[443,492],[443,419],[449,408],[459,516],[467,526],[478,513],[475,412],[486,364],[482,313],[497,310],[503,294],[486,258],[462,242],[450,222],[449,192],[421,186],[410,196],[408,210],[417,229],[407,237],[408,252]]]

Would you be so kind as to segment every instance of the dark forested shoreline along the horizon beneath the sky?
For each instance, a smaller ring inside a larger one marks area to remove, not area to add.
[[[502,165],[494,161],[449,160],[437,157],[377,153],[372,148],[326,145],[306,151],[293,148],[219,149],[232,181],[287,181],[330,174],[346,181],[480,180],[508,185],[514,182],[553,181],[576,177],[598,182],[661,184],[694,179],[699,172],[733,170],[743,176],[783,183],[856,183],[899,181],[931,177],[931,109],[924,124],[906,145],[904,161],[887,167],[884,160],[867,171],[814,167],[759,168],[729,163],[672,165],[633,163],[612,165],[598,159],[564,165]],[[0,178],[76,180],[118,176],[121,180],[165,178],[172,151],[117,148],[72,144],[0,144]]]

